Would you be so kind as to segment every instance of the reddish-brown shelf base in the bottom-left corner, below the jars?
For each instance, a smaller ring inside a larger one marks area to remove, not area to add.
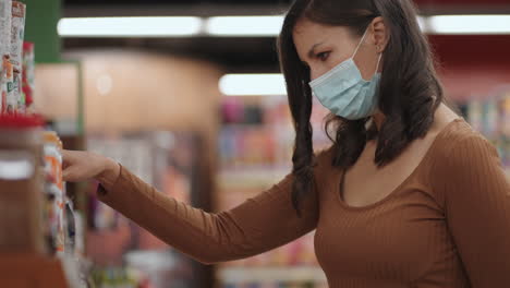
[[[35,255],[0,255],[0,287],[68,288],[59,260]]]

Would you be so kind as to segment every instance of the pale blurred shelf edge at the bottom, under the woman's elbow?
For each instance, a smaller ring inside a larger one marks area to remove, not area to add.
[[[223,283],[298,283],[298,281],[327,281],[320,267],[220,267],[218,277]]]

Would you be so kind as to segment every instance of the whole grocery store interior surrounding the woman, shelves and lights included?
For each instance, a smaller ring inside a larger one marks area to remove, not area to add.
[[[0,287],[328,287],[315,231],[205,265],[101,203],[97,182],[62,180],[62,151],[87,149],[207,213],[282,180],[295,132],[275,47],[290,2],[0,0]],[[446,95],[510,177],[510,25],[490,26],[508,1],[415,2]],[[314,98],[315,151],[328,113]]]

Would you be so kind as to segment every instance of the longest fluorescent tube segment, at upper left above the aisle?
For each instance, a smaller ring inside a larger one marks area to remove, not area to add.
[[[163,17],[76,17],[62,19],[58,32],[63,37],[168,37],[194,36],[203,20],[194,16]]]

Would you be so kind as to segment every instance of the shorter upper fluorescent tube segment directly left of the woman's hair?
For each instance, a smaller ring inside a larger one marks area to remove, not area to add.
[[[205,32],[212,36],[267,37],[281,32],[283,16],[217,16],[206,21]]]

